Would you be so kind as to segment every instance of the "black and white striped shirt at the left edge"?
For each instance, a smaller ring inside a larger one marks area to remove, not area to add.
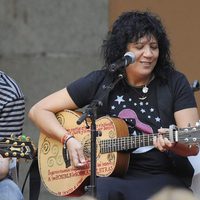
[[[16,82],[0,71],[0,137],[22,134],[24,95]]]

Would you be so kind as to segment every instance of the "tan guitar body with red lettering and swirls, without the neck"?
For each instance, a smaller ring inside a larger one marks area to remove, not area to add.
[[[90,129],[86,123],[77,125],[80,113],[62,111],[57,113],[61,125],[69,131],[82,145],[88,165],[84,169],[73,166],[66,168],[63,159],[63,145],[45,134],[40,133],[38,143],[38,165],[43,184],[49,192],[57,196],[80,196],[85,193],[84,187],[90,180]],[[90,122],[88,122],[90,125]],[[96,120],[97,130],[101,136],[97,137],[97,176],[123,176],[128,169],[129,153],[109,152],[101,153],[102,140],[128,136],[126,123],[118,118],[102,117]],[[123,167],[122,167],[123,166]]]

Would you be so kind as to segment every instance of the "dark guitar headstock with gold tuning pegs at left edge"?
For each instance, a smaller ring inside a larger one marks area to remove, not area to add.
[[[0,154],[4,158],[33,159],[36,155],[36,148],[30,137],[22,135],[16,138],[11,136],[0,139]]]

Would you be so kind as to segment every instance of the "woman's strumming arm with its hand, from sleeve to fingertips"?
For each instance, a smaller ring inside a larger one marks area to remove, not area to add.
[[[35,104],[29,111],[30,119],[42,132],[58,141],[68,133],[65,128],[58,122],[55,113],[64,109],[77,109],[66,88],[57,91]],[[67,142],[70,159],[74,166],[82,166],[85,164],[81,144],[74,138],[70,138]]]

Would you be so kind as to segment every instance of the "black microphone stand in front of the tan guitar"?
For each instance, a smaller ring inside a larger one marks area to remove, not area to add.
[[[96,197],[96,137],[99,135],[99,132],[96,130],[96,119],[97,119],[97,108],[102,107],[102,100],[108,94],[114,86],[123,78],[122,74],[119,74],[117,79],[114,80],[110,85],[103,86],[103,89],[106,90],[104,95],[99,100],[93,100],[89,104],[80,118],[77,120],[77,124],[81,124],[86,118],[91,119],[91,176],[90,176],[90,185],[86,186],[86,190],[92,197]],[[86,121],[87,124],[87,121]]]

